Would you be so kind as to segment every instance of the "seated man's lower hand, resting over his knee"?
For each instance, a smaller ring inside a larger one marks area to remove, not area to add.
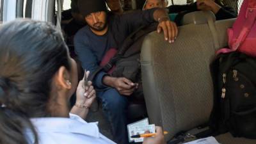
[[[132,83],[132,81],[125,77],[117,77],[115,78],[113,87],[116,88],[121,95],[129,96],[138,88],[138,83]]]

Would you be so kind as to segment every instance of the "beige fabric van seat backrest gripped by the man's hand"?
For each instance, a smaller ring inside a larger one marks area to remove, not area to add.
[[[234,19],[214,22],[220,47]],[[209,24],[179,27],[174,44],[156,32],[145,37],[141,50],[143,92],[150,123],[163,126],[170,140],[209,120],[213,86],[209,65],[217,50]]]

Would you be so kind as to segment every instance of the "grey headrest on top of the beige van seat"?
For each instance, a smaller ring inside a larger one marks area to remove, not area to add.
[[[182,19],[182,25],[186,24],[206,24],[209,19],[213,21],[216,20],[214,13],[211,11],[198,11],[198,12],[191,12],[184,15]]]

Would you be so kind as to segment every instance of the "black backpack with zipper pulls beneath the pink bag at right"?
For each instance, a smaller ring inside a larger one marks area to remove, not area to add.
[[[256,58],[241,52],[220,54],[211,64],[214,108],[210,127],[215,135],[256,138]]]

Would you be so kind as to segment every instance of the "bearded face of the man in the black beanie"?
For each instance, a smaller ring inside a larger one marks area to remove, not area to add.
[[[88,26],[95,31],[102,31],[106,28],[106,12],[102,11],[90,13],[90,15],[86,15],[84,19],[86,20]]]

